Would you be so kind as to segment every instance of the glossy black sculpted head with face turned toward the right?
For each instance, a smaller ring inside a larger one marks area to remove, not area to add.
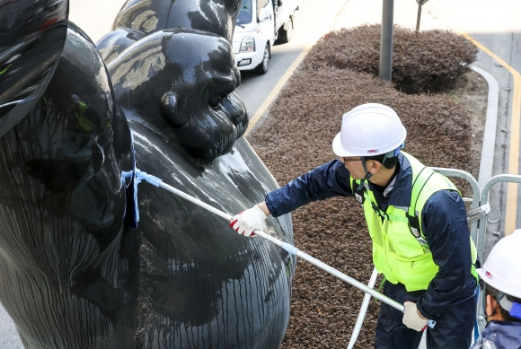
[[[157,31],[123,51],[109,70],[130,122],[190,161],[213,161],[246,130],[246,108],[234,93],[240,74],[232,48],[216,34]]]

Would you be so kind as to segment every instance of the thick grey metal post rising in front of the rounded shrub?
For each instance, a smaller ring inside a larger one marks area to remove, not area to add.
[[[391,81],[393,70],[393,13],[394,0],[384,0],[380,38],[380,79],[387,81]]]

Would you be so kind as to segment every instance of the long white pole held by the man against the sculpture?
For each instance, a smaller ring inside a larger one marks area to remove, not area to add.
[[[220,217],[223,217],[227,222],[230,222],[230,219],[232,218],[232,216],[230,214],[226,214],[225,212],[220,211],[211,205],[203,203],[199,199],[197,199],[193,196],[190,196],[190,195],[182,192],[179,189],[173,188],[173,187],[169,186],[168,184],[163,183],[162,179],[158,179],[157,177],[149,175],[146,172],[136,169],[136,179],[138,182],[141,181],[142,179],[146,180],[148,183],[154,185],[157,188],[163,188],[177,196],[181,196],[182,198],[190,201],[191,203],[193,203],[195,205],[199,205],[200,207],[208,210],[209,212],[216,214]],[[318,266],[323,271],[326,271],[329,274],[338,277],[340,280],[358,288],[358,290],[360,290],[360,291],[363,291],[363,292],[366,292],[366,293],[372,295],[373,297],[375,297],[375,299],[377,299],[379,301],[383,301],[384,303],[390,305],[394,309],[400,310],[402,312],[405,311],[405,307],[403,306],[403,304],[400,304],[399,302],[392,300],[391,298],[387,297],[386,295],[375,291],[373,288],[366,286],[366,284],[362,284],[362,283],[358,282],[358,280],[355,280],[352,277],[341,273],[339,270],[337,270],[331,266],[328,266],[327,264],[323,263],[322,261],[309,256],[305,252],[297,249],[295,246],[288,244],[287,242],[278,240],[278,239],[272,237],[271,235],[267,234],[264,231],[255,231],[255,235],[260,236],[262,239],[273,242],[274,244],[278,245],[282,249],[287,250],[287,252],[291,253],[292,255],[296,255],[296,257],[305,259],[309,263],[313,264],[313,266]],[[432,320],[429,320],[428,322],[429,322],[429,324],[428,324],[429,327],[434,327],[434,324],[436,323],[435,321],[432,321]]]

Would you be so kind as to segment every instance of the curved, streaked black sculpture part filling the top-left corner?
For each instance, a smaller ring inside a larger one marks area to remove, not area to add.
[[[67,12],[66,0],[0,2],[0,135],[49,84],[66,39]]]

